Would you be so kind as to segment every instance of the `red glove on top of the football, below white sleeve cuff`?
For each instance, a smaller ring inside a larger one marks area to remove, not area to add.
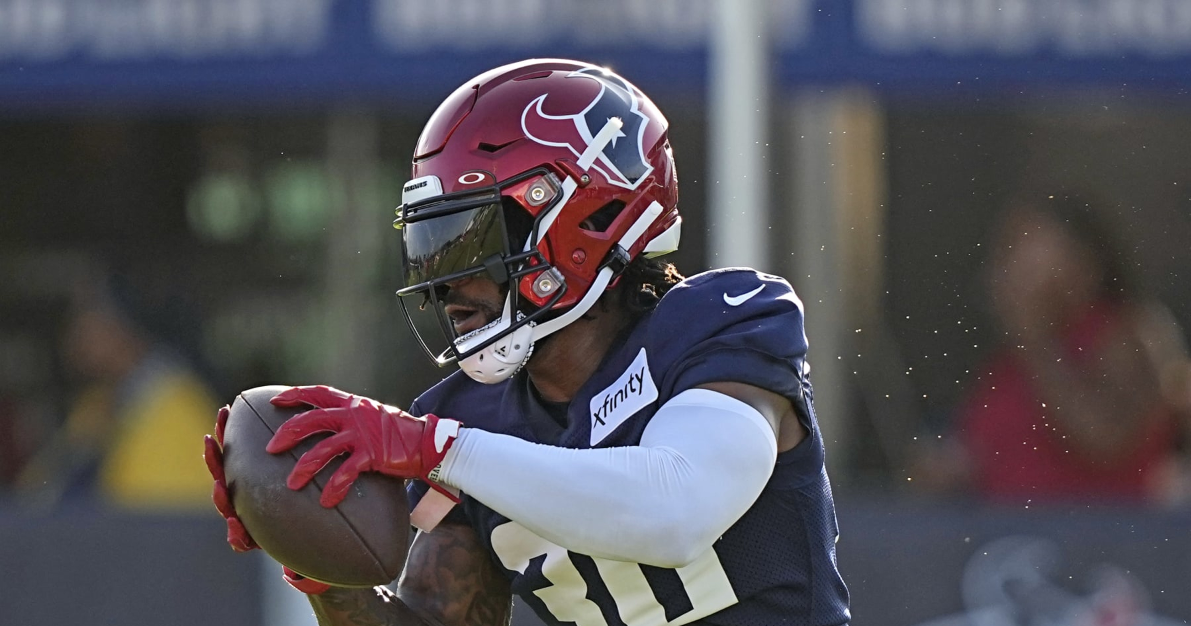
[[[280,407],[316,407],[289,418],[273,434],[266,450],[285,452],[318,432],[332,432],[298,459],[286,484],[301,489],[332,458],[348,453],[323,488],[319,500],[333,507],[348,495],[362,471],[379,471],[398,478],[422,478],[454,501],[431,472],[442,463],[459,434],[460,422],[436,415],[414,418],[400,408],[382,405],[332,387],[293,387],[270,400]]]

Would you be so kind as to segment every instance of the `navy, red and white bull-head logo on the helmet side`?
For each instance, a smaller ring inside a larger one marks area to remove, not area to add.
[[[582,111],[567,115],[542,111],[542,104],[550,94],[535,98],[522,112],[525,137],[543,145],[567,148],[578,157],[609,119],[621,118],[624,125],[604,146],[592,169],[612,184],[636,189],[654,170],[642,149],[649,118],[638,108],[636,89],[618,76],[610,76],[597,68],[572,71],[567,77],[593,80],[600,86],[599,93]]]

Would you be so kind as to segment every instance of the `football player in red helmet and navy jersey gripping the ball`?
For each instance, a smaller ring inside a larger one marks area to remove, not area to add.
[[[398,208],[399,295],[461,371],[409,412],[273,399],[313,408],[270,452],[335,433],[291,488],[345,455],[324,506],[362,471],[411,478],[423,528],[395,593],[286,570],[322,624],[507,624],[513,594],[550,625],[848,622],[802,302],[752,269],[682,278],[656,258],[680,224],[667,121],[607,69],[513,63],[438,107]],[[252,547],[218,478],[216,501]]]

